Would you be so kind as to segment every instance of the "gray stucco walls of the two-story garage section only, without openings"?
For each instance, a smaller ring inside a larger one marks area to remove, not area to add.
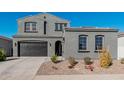
[[[44,16],[46,17],[45,19]],[[43,33],[44,21],[47,21],[46,34]],[[25,32],[24,31],[25,22],[37,22],[37,32],[36,33]],[[13,55],[18,56],[18,42],[29,40],[41,42],[47,41],[48,42],[47,56],[52,56],[53,54],[55,54],[55,42],[56,41],[63,42],[63,31],[55,31],[55,23],[67,23],[67,27],[69,27],[70,25],[69,21],[47,13],[18,19],[18,32],[15,36],[13,36]]]

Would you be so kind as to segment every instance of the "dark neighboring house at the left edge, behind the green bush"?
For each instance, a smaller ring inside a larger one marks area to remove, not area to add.
[[[12,39],[0,36],[0,49],[3,49],[7,56],[12,56]]]

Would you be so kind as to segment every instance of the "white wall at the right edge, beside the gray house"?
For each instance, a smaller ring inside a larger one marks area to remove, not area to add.
[[[118,59],[124,58],[124,37],[118,38]]]

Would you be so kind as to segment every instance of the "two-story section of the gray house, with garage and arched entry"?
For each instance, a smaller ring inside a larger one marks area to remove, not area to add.
[[[18,19],[13,36],[14,56],[62,56],[64,28],[69,21],[43,13]]]

